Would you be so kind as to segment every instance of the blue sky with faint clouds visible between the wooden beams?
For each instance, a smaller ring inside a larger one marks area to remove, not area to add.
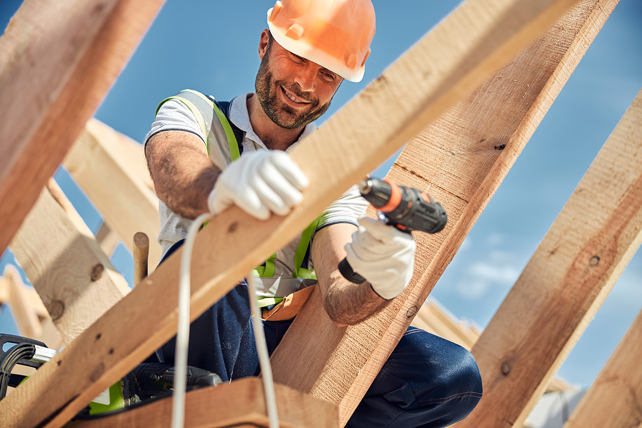
[[[458,1],[373,0],[377,31],[365,77],[345,82],[320,123],[374,80],[453,10]],[[2,28],[21,1],[0,2]],[[220,100],[252,91],[257,44],[271,0],[169,0],[96,112],[96,118],[142,141],[160,100],[186,88]],[[564,203],[642,87],[642,2],[621,0],[568,84],[508,173],[431,296],[453,314],[485,326]],[[390,162],[374,175],[383,175]],[[73,180],[56,179],[95,232],[101,217]],[[130,254],[114,264],[131,281]],[[12,262],[10,253],[0,260]],[[642,307],[642,254],[623,272],[559,376],[587,387]],[[14,332],[3,307],[0,332]]]

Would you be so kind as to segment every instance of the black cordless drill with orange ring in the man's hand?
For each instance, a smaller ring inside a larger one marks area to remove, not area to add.
[[[359,190],[361,196],[379,210],[380,220],[401,231],[437,233],[446,226],[448,217],[444,207],[417,189],[399,186],[388,179],[367,179],[361,181]],[[365,281],[363,276],[352,271],[346,258],[339,262],[339,272],[353,283]]]

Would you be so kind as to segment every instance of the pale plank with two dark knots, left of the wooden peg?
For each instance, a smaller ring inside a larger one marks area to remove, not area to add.
[[[11,248],[66,344],[130,291],[53,179]]]

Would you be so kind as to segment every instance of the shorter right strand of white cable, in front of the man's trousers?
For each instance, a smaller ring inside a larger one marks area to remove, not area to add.
[[[274,382],[272,380],[272,366],[270,365],[270,354],[268,345],[265,343],[265,333],[263,332],[263,317],[259,311],[259,303],[256,301],[256,278],[252,272],[247,276],[248,294],[250,295],[250,307],[254,317],[254,339],[256,341],[256,351],[259,353],[259,365],[261,366],[261,375],[263,376],[263,391],[265,392],[265,406],[268,409],[268,421],[270,428],[279,428],[279,414],[277,413],[277,397],[274,392]]]

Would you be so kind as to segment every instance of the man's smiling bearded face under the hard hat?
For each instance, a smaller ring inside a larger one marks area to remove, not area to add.
[[[256,75],[256,95],[270,120],[282,128],[299,129],[324,114],[342,80],[272,39]]]

